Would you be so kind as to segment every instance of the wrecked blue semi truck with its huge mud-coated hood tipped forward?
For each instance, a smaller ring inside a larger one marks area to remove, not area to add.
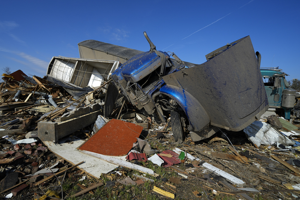
[[[170,59],[144,34],[150,51],[134,55],[116,69],[113,82],[145,115],[161,121],[170,115],[176,141],[184,140],[183,127],[193,141],[208,138],[219,128],[240,131],[268,109],[249,36],[211,52],[207,62],[195,65],[175,54]]]

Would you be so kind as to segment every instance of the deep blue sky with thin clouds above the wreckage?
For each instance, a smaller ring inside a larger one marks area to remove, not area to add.
[[[4,67],[46,75],[53,56],[79,58],[78,43],[99,40],[156,49],[201,64],[213,50],[250,35],[261,67],[300,79],[300,1],[3,1],[0,74]]]

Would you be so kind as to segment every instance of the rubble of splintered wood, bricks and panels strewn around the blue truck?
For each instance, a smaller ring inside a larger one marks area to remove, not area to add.
[[[85,66],[79,61],[96,73],[86,59],[72,61],[75,70]],[[300,197],[299,124],[274,115],[197,142],[185,131],[178,142],[170,118],[155,120],[118,90],[108,93],[109,73],[120,63],[104,62],[105,76],[82,79],[84,87],[80,76],[77,85],[49,76],[70,67],[58,63],[66,61],[53,57],[44,78],[18,70],[0,85],[2,198]]]

